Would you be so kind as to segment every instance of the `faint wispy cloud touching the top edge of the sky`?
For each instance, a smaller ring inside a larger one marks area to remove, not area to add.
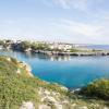
[[[88,0],[40,0],[40,1],[47,7],[58,5],[62,9],[75,9],[80,11],[85,11],[88,4]]]

